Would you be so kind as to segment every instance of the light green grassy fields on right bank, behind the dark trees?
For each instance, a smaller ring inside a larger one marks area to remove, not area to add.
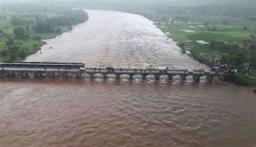
[[[170,21],[166,23],[159,21],[156,25],[163,31],[169,32],[168,35],[177,43],[185,43],[185,48],[192,50],[197,54],[203,55],[209,60],[219,60],[221,58],[220,52],[213,50],[207,44],[199,44],[196,41],[203,40],[210,42],[211,40],[219,40],[228,43],[238,43],[242,46],[244,39],[250,35],[255,34],[256,26],[253,22],[242,19],[227,19],[227,24],[223,24],[224,19],[215,16],[200,16],[194,19],[195,23],[181,23]],[[204,26],[203,22],[208,22],[208,26]],[[244,26],[248,27],[247,31],[244,31]],[[215,31],[209,31],[215,27]],[[184,31],[185,30],[185,31]],[[187,31],[187,32],[186,32]],[[167,33],[168,34],[168,33]]]

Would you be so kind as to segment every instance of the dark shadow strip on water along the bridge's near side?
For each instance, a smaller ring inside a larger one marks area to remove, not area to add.
[[[187,77],[186,80],[181,80],[179,77],[173,78],[169,80],[167,77],[160,77],[159,80],[155,80],[153,77],[147,77],[145,80],[142,77],[134,76],[132,79],[129,77],[121,77],[120,79],[116,79],[115,76],[110,76],[104,79],[101,76],[95,77],[95,79],[91,79],[90,77],[86,77],[83,79],[76,78],[0,78],[0,83],[8,84],[8,83],[26,83],[26,84],[50,84],[50,85],[164,85],[164,86],[172,86],[172,85],[214,85],[221,82],[218,79],[214,79],[213,82],[208,82],[206,78],[201,77],[199,82],[195,82],[193,78]]]

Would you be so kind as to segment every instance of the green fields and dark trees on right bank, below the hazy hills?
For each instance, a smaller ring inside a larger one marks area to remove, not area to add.
[[[217,19],[217,17],[213,18]],[[161,19],[154,20],[154,24],[181,49],[189,51],[188,55],[194,60],[209,67],[224,63],[230,64],[231,68],[239,67],[246,75],[235,76],[233,82],[242,86],[256,86],[255,70],[245,70],[255,67],[255,44],[246,41],[254,40],[255,27],[252,26],[251,21],[234,19],[228,21],[228,24],[223,24],[220,20],[221,18],[219,21],[216,20],[219,23],[210,21],[213,24],[206,25],[192,21],[185,23],[179,20]],[[239,24],[234,24],[238,22]],[[250,25],[251,29],[243,30],[244,25]]]

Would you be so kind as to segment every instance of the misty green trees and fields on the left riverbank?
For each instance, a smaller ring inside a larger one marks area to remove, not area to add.
[[[58,11],[59,10],[59,11]],[[21,61],[45,44],[42,39],[55,38],[83,23],[83,10],[55,6],[2,5],[0,9],[0,61]]]

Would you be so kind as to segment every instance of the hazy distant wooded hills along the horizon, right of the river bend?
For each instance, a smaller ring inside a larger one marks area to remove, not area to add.
[[[143,14],[148,18],[169,16],[170,14],[206,14],[255,19],[255,1],[204,1],[204,0],[165,0],[165,1],[78,1],[90,9],[118,10]]]

